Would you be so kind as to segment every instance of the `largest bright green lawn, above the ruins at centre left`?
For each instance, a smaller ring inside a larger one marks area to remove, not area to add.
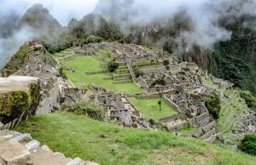
[[[89,83],[94,83],[96,86],[107,88],[117,92],[126,94],[141,93],[142,90],[137,88],[134,83],[113,84],[113,80],[104,80],[104,78],[112,77],[111,74],[102,73],[96,75],[86,75],[86,71],[103,71],[100,66],[101,61],[91,56],[79,56],[74,60],[61,60],[61,65],[71,67],[75,69],[75,72],[65,71],[67,77],[74,83],[75,86],[81,87],[82,82],[85,84],[85,88],[88,88]]]

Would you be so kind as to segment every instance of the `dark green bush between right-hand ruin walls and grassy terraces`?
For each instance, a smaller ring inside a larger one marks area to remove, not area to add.
[[[220,98],[219,95],[216,93],[212,93],[211,98],[204,98],[202,100],[209,113],[212,115],[214,119],[218,119],[218,114],[220,111]]]

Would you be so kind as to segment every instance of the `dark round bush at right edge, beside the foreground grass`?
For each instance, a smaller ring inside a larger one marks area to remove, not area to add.
[[[256,156],[256,134],[247,134],[240,144],[241,151],[246,152],[252,156]]]

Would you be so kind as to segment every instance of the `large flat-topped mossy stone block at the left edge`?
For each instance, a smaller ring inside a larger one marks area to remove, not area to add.
[[[12,128],[31,117],[38,105],[39,91],[37,77],[0,77],[0,122]]]

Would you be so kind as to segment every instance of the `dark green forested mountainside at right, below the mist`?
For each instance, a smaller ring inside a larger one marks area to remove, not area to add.
[[[226,18],[229,19],[230,18]],[[222,21],[223,26],[232,31],[230,40],[216,43],[211,55],[211,72],[217,77],[229,80],[236,87],[256,94],[256,65],[254,45],[256,31],[242,26],[252,18],[233,18],[234,22]],[[255,19],[254,19],[255,20]]]

